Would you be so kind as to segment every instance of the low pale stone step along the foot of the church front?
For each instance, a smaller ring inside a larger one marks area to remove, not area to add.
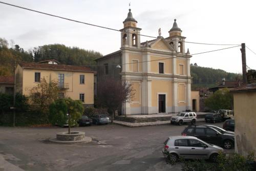
[[[197,122],[204,121],[204,118],[197,119]],[[114,120],[114,123],[127,126],[127,127],[141,127],[141,126],[156,126],[156,125],[163,125],[163,124],[170,124],[170,121],[156,121],[156,122],[138,122],[138,123],[132,123],[132,122],[124,122],[119,120]]]

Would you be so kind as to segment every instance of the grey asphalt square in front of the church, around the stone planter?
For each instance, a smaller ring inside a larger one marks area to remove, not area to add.
[[[185,126],[109,124],[74,127],[71,131],[86,132],[86,136],[93,139],[89,143],[74,144],[49,141],[67,128],[0,127],[0,171],[180,170],[179,164],[166,164],[161,149],[168,136],[181,135]],[[233,149],[226,152],[232,153]]]

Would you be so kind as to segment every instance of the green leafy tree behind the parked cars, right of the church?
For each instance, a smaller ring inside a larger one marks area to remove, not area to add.
[[[205,106],[211,110],[219,109],[233,109],[233,95],[229,93],[228,88],[224,88],[216,91],[210,95],[209,98],[205,99]]]

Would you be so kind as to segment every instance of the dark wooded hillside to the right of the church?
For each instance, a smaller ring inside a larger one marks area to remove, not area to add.
[[[242,80],[241,74],[229,73],[220,69],[200,67],[197,63],[194,63],[194,65],[192,63],[190,64],[190,74],[191,77],[193,77],[192,89],[215,87],[221,82],[222,78],[225,78],[226,81]]]

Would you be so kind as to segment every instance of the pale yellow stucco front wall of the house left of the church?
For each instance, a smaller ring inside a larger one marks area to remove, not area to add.
[[[72,71],[54,71],[40,69],[24,69],[23,70],[23,94],[30,95],[30,90],[38,83],[34,82],[35,72],[40,72],[40,77],[58,81],[58,74],[64,74],[64,83],[68,84],[69,89],[66,90],[65,96],[74,100],[79,100],[79,94],[84,93],[84,103],[94,103],[93,80],[94,73],[72,72]],[[80,75],[84,75],[84,84],[80,84]]]

